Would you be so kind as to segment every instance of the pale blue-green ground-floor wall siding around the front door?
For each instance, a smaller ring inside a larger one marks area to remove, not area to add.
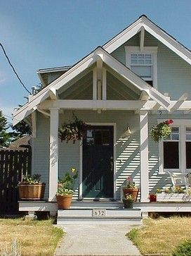
[[[119,198],[120,185],[124,183],[127,176],[132,176],[136,185],[140,184],[140,128],[139,115],[131,111],[74,111],[79,118],[87,123],[116,123],[116,183],[117,198]],[[190,119],[190,115],[150,115],[150,128],[157,123],[157,119],[162,118],[185,118]],[[60,125],[72,120],[72,111],[65,111],[60,114]],[[130,126],[132,134],[124,137],[126,126]],[[49,118],[42,114],[37,114],[37,138],[34,138],[33,153],[33,173],[40,173],[41,180],[46,182],[46,198],[48,197],[48,165],[49,165]],[[166,175],[158,173],[158,143],[149,139],[149,171],[150,171],[150,191],[157,188],[171,185],[171,180]],[[79,142],[60,142],[59,140],[59,176],[62,177],[65,171],[70,171],[71,167],[79,170]],[[76,184],[75,198],[78,196],[78,183]],[[111,188],[112,189],[112,188]]]

